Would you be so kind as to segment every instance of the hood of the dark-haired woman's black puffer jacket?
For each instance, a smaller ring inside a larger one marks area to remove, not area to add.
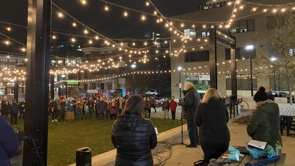
[[[118,123],[123,126],[124,130],[133,130],[142,120],[142,115],[127,114],[118,116]]]

